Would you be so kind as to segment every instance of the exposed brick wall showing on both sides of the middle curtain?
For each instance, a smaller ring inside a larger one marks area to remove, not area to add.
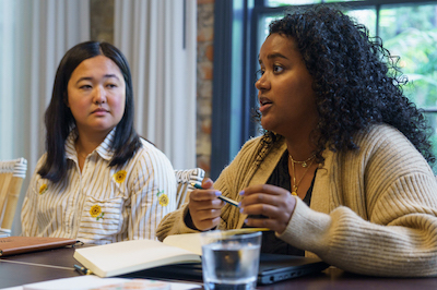
[[[191,1],[191,0],[189,0]],[[114,44],[114,0],[91,0],[91,39]],[[214,0],[198,0],[197,166],[210,173]]]

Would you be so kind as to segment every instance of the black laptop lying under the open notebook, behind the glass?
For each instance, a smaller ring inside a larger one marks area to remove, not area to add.
[[[320,258],[261,253],[258,285],[319,273],[329,267]],[[177,264],[126,275],[131,278],[202,279],[202,264]]]

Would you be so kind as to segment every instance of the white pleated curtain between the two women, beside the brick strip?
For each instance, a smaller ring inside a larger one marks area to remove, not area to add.
[[[114,43],[132,71],[135,129],[175,169],[196,166],[196,0],[115,0]]]

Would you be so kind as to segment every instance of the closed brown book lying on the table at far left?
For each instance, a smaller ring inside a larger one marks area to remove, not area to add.
[[[0,256],[37,252],[75,244],[75,239],[47,237],[8,237],[0,238]]]

